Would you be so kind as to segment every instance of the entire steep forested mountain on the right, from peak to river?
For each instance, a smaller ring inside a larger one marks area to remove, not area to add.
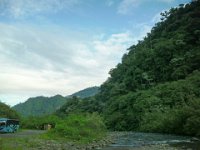
[[[99,94],[68,101],[57,114],[97,111],[111,130],[200,136],[200,1],[161,16]]]

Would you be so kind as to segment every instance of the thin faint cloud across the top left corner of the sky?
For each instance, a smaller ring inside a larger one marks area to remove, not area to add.
[[[0,14],[10,15],[14,18],[24,18],[38,13],[71,11],[79,2],[79,0],[1,0]]]

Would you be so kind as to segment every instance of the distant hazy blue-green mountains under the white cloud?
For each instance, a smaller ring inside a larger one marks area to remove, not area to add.
[[[13,109],[19,112],[19,114],[22,116],[44,116],[54,113],[71,97],[77,96],[79,98],[85,98],[94,96],[98,92],[99,87],[90,87],[67,97],[63,97],[61,95],[56,95],[53,97],[38,96],[29,98],[24,103],[15,105]]]

